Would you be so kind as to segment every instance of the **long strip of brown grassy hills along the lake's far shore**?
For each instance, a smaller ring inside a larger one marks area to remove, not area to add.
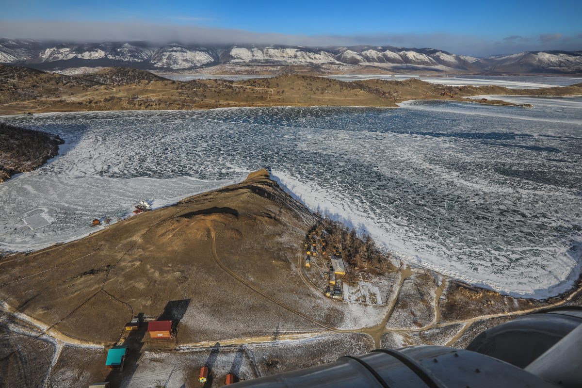
[[[517,90],[499,86],[441,86],[417,79],[345,82],[299,74],[245,81],[171,81],[144,70],[120,67],[111,67],[94,74],[64,76],[0,65],[0,79],[3,75],[4,81],[0,84],[0,114],[233,106],[396,107],[398,102],[407,99],[467,101],[462,97],[481,94],[582,94],[579,85]],[[495,103],[514,105],[503,101]]]

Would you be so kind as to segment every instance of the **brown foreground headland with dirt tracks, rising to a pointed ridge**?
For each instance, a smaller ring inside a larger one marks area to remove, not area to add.
[[[8,372],[0,373],[0,385],[42,386],[48,373],[54,386],[105,379],[127,386],[134,374],[134,381],[155,386],[157,376],[172,368],[196,372],[216,360],[211,369],[221,369],[221,378],[207,386],[217,387],[239,351],[253,365],[241,375],[253,378],[260,375],[257,368],[268,375],[318,365],[326,355],[352,354],[346,348],[353,346],[361,354],[380,346],[466,344],[489,321],[570,300],[580,304],[580,289],[563,300],[531,301],[405,268],[370,255],[374,250],[361,251],[373,242],[340,227],[310,213],[260,170],[242,183],[133,216],[84,239],[0,257],[0,364]],[[321,240],[313,268],[304,266],[303,244],[312,233],[330,244],[340,241],[346,284],[375,284],[384,304],[325,297],[329,269],[317,265],[324,256]],[[179,319],[176,339],[149,339],[145,326],[130,332],[124,371],[108,374],[105,350],[79,341],[109,347],[140,313]],[[53,339],[61,340],[62,351]],[[159,364],[168,359],[171,365]],[[54,367],[51,360],[58,360]],[[184,386],[191,381],[197,384],[186,377]]]

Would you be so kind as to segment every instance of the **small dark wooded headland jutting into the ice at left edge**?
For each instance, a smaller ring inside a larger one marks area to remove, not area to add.
[[[54,158],[60,137],[0,123],[0,183],[20,172],[30,172]]]

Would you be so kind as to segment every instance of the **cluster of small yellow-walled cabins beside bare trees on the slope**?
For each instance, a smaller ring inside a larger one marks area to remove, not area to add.
[[[346,275],[346,265],[342,258],[340,246],[334,244],[330,248],[325,239],[325,231],[316,229],[313,233],[308,234],[304,248],[307,254],[305,258],[305,268],[307,270],[311,270],[312,258],[319,255],[321,255],[327,268],[329,268],[325,296],[342,299],[342,277]],[[325,273],[322,273],[322,276],[325,276]]]

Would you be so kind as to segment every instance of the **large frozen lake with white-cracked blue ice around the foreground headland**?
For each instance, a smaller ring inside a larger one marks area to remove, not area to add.
[[[410,262],[514,295],[557,294],[580,272],[582,98],[502,98],[534,108],[414,101],[5,116],[67,143],[55,161],[0,185],[0,249],[75,239],[140,200],[169,204],[269,167],[309,207]]]

